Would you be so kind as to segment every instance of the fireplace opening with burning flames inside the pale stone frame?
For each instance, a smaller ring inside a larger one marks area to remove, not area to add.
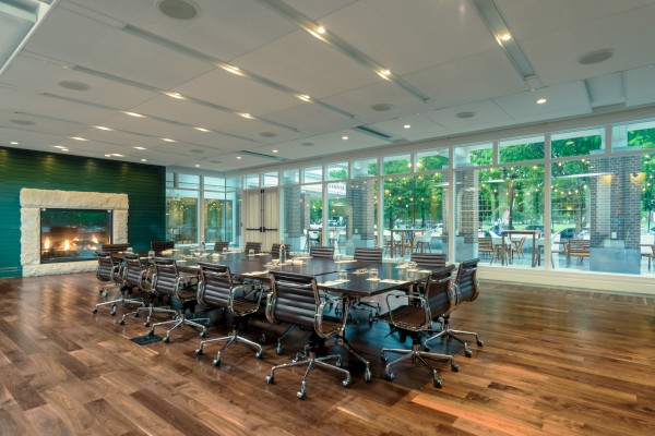
[[[94,261],[111,243],[111,210],[41,209],[40,263]]]

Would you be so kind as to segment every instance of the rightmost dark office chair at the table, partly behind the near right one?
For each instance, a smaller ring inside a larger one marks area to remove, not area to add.
[[[480,294],[480,287],[477,279],[477,265],[480,262],[479,258],[472,261],[465,261],[460,264],[457,268],[457,275],[455,277],[455,310],[460,304],[466,301],[475,301]],[[452,311],[451,310],[451,311]],[[479,335],[474,331],[453,330],[450,328],[450,315],[451,311],[442,314],[441,329],[438,330],[437,335],[432,336],[425,341],[427,347],[428,342],[437,338],[454,339],[464,346],[464,355],[471,358],[473,352],[468,349],[468,343],[457,337],[456,335],[469,335],[475,336],[475,340],[478,347],[483,347],[485,343],[480,340]]]

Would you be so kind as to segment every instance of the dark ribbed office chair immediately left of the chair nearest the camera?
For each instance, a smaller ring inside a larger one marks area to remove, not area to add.
[[[214,366],[221,366],[221,353],[233,343],[240,342],[254,347],[257,349],[254,355],[261,359],[263,356],[262,346],[250,339],[246,339],[238,334],[239,323],[245,317],[254,314],[259,310],[259,301],[252,302],[238,296],[238,293],[242,293],[243,289],[241,287],[235,287],[233,283],[229,267],[204,262],[199,262],[198,265],[200,265],[198,302],[206,306],[227,310],[231,315],[233,331],[229,336],[224,338],[200,341],[195,354],[201,355],[207,343],[225,342],[216,353],[216,359],[213,362]]]

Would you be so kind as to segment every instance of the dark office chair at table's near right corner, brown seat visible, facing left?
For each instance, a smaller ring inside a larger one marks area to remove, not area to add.
[[[428,277],[422,294],[389,294],[386,295],[386,305],[389,306],[389,318],[391,324],[412,335],[412,350],[405,349],[382,349],[382,361],[386,362],[385,353],[403,354],[393,362],[389,362],[385,367],[386,379],[392,380],[394,374],[390,371],[393,365],[412,359],[417,360],[432,370],[432,382],[436,387],[443,385],[439,378],[439,372],[426,359],[450,361],[452,371],[458,371],[460,366],[455,359],[449,354],[439,354],[421,350],[421,334],[429,331],[432,319],[442,314],[450,313],[455,306],[455,293],[451,287],[451,272],[454,266],[443,267],[433,270]],[[392,310],[391,299],[407,299],[407,304]]]

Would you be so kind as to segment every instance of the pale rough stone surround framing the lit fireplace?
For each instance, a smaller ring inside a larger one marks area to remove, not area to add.
[[[93,271],[96,261],[40,263],[40,209],[111,209],[114,243],[128,242],[128,194],[102,192],[21,190],[21,265],[23,276]]]

